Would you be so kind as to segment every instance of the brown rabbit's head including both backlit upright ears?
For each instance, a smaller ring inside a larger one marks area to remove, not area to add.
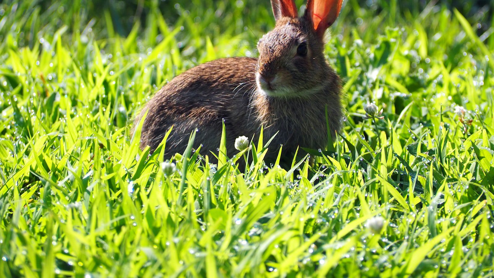
[[[256,83],[268,97],[307,97],[321,91],[334,71],[324,57],[324,33],[342,0],[308,0],[298,17],[294,0],[271,0],[276,26],[258,42]]]

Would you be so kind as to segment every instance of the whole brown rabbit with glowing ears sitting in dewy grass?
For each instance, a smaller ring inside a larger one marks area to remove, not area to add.
[[[267,158],[297,146],[324,148],[342,119],[340,78],[324,57],[324,33],[338,17],[342,0],[308,0],[302,17],[294,0],[271,0],[275,28],[258,42],[259,58],[223,58],[198,65],[165,85],[146,104],[141,147],[155,150],[173,126],[165,156],[183,152],[198,129],[203,154],[216,151],[222,122],[227,150],[235,153],[239,136],[252,137],[264,127],[264,139],[278,135]]]

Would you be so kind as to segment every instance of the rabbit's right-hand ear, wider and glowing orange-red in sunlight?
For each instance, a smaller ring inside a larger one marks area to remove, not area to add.
[[[311,19],[314,31],[324,35],[339,15],[343,0],[307,0],[305,16]]]

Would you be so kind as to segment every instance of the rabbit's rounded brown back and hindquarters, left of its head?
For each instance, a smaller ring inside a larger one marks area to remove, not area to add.
[[[148,114],[141,134],[141,147],[155,150],[167,130],[173,131],[166,142],[165,156],[183,152],[190,134],[197,129],[194,147],[202,144],[203,154],[216,150],[225,121],[228,140],[233,147],[237,136],[254,133],[245,119],[255,91],[255,58],[223,58],[198,65],[168,82],[149,100],[140,116]]]

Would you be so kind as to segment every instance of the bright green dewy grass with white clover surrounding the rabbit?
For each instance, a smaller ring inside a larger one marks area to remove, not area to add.
[[[0,3],[0,276],[493,277],[493,16],[466,6],[346,0],[344,129],[282,169],[129,132],[167,80],[255,56],[268,0]]]

